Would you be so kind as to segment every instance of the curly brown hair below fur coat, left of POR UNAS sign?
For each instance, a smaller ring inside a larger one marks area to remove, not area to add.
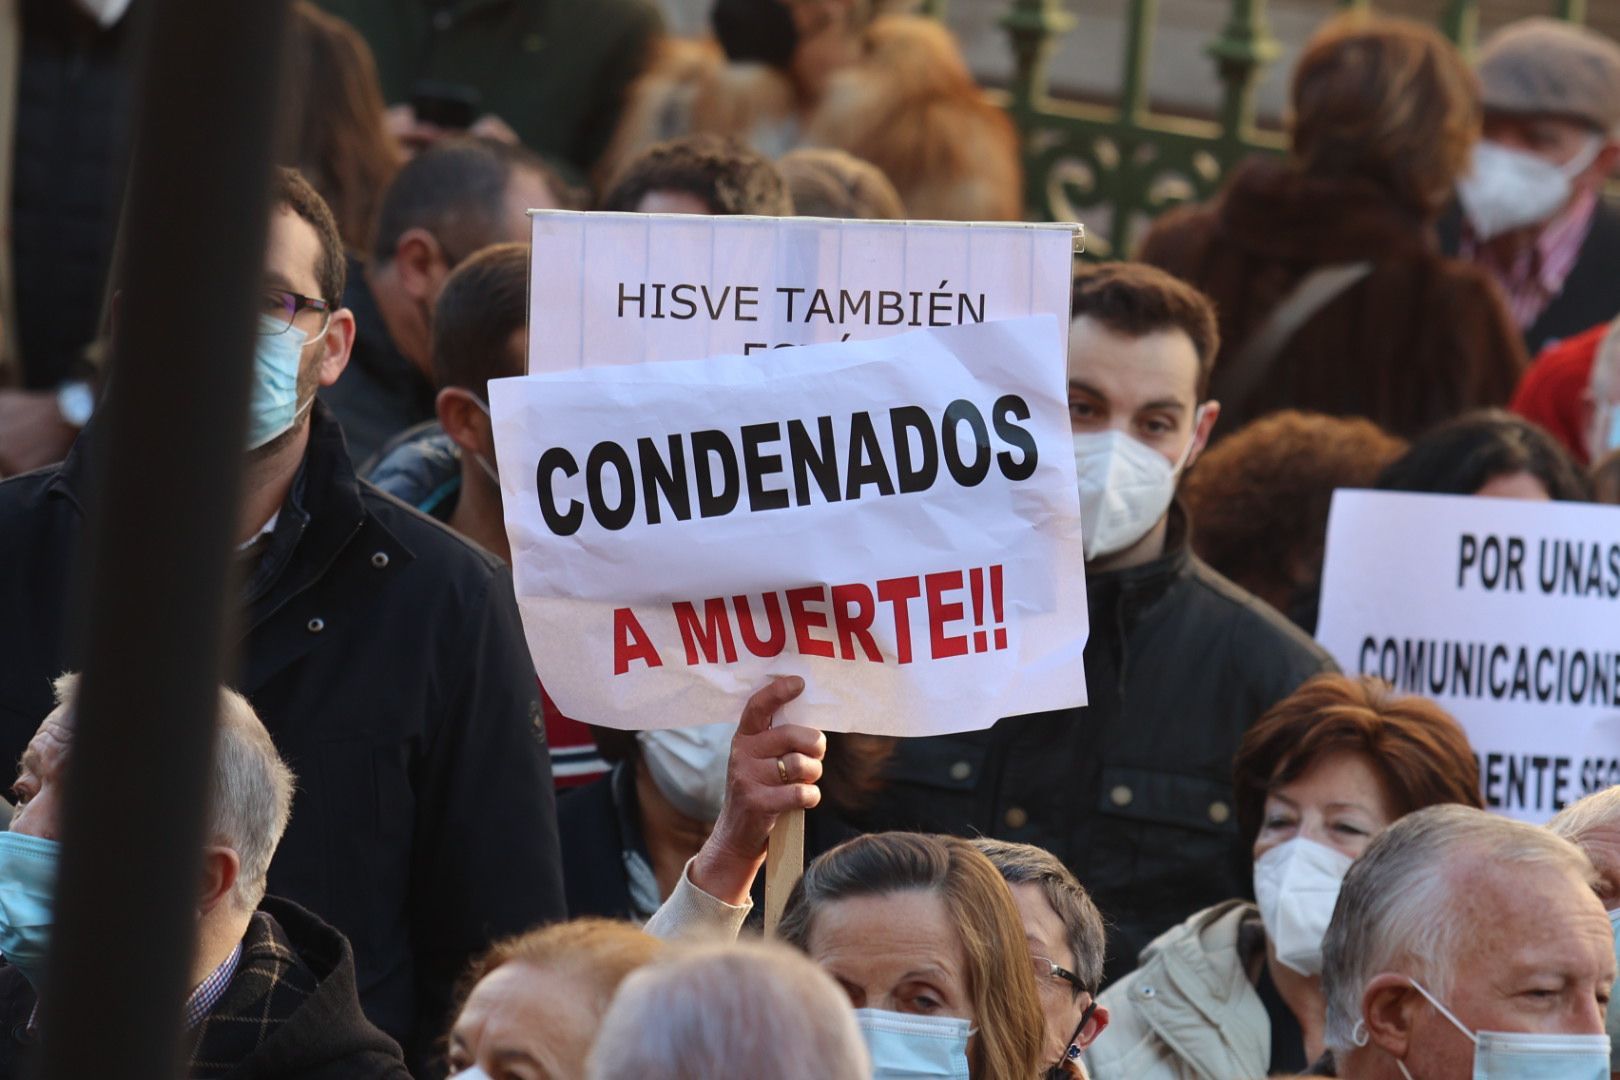
[[[1405,440],[1359,416],[1285,410],[1210,447],[1181,483],[1199,557],[1280,610],[1322,572],[1336,487],[1372,487]],[[1302,568],[1309,573],[1301,580]]]

